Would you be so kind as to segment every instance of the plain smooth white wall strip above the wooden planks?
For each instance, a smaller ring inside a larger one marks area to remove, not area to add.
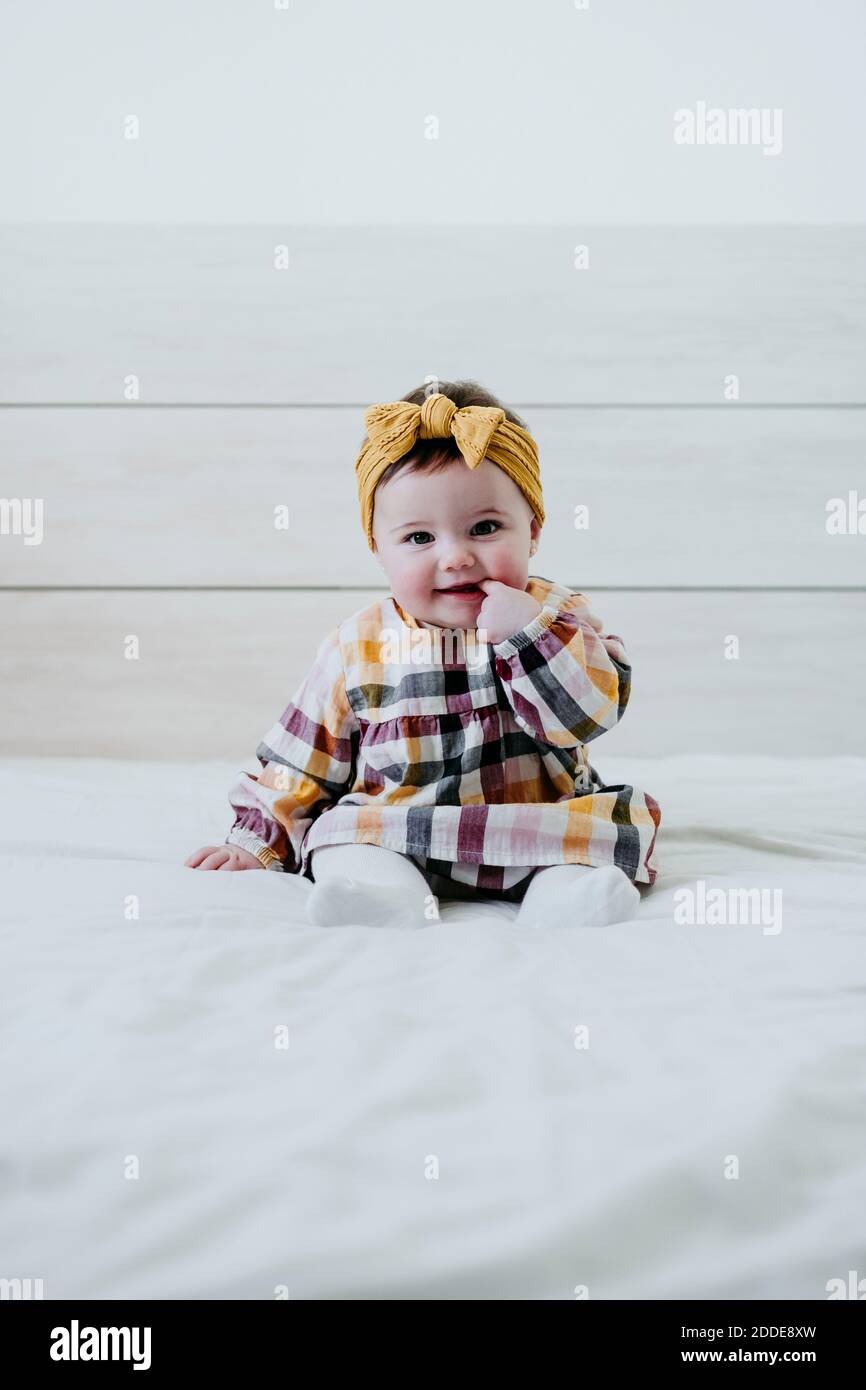
[[[862,0],[281,3],[7,6],[3,220],[866,215]],[[674,145],[698,101],[781,108],[781,153]]]

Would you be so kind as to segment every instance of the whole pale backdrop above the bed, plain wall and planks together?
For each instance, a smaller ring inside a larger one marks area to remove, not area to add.
[[[606,749],[866,749],[866,6],[589,4],[7,6],[0,756],[249,756],[382,587],[363,409],[430,374],[539,439]],[[781,153],[676,145],[699,101]]]

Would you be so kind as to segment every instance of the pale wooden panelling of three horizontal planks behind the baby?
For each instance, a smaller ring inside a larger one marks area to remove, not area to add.
[[[7,227],[0,247],[0,496],[44,507],[40,545],[0,535],[1,755],[253,770],[325,627],[384,592],[361,411],[428,374],[481,379],[539,441],[534,573],[589,594],[634,663],[602,769],[605,748],[866,752],[866,535],[826,525],[866,499],[863,229]]]

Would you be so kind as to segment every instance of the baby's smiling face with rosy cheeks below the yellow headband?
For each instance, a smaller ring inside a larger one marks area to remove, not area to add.
[[[499,580],[525,589],[530,543],[541,532],[517,484],[489,459],[455,459],[435,473],[398,473],[377,488],[375,553],[400,607],[423,623],[473,628],[485,594],[455,585]]]

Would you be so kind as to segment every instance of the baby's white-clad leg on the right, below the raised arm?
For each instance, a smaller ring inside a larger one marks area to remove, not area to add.
[[[641,894],[614,865],[549,865],[530,880],[516,927],[607,927],[628,922]]]

